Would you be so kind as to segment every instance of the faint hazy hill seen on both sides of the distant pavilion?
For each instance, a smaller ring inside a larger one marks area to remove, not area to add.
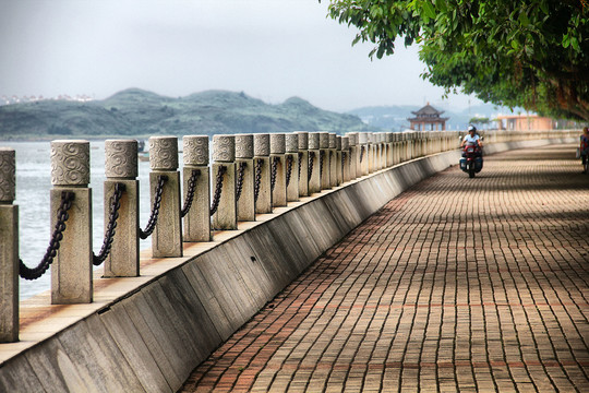
[[[397,105],[397,106],[375,106],[349,110],[348,114],[356,115],[366,124],[378,127],[392,131],[402,131],[409,128],[407,118],[412,117],[411,111],[417,111],[421,105]],[[498,112],[508,114],[508,108],[497,108],[492,104],[483,104],[467,109],[434,107],[444,110],[442,117],[449,118],[446,122],[447,130],[466,130],[468,122],[473,117],[486,117],[493,119]]]

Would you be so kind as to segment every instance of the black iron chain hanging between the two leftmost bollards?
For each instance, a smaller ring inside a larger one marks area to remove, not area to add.
[[[57,223],[53,228],[53,234],[51,235],[51,240],[49,241],[49,247],[47,252],[43,257],[43,260],[36,267],[27,267],[23,260],[19,259],[19,275],[24,279],[37,279],[47,272],[53,258],[56,258],[57,252],[60,247],[60,241],[63,239],[63,230],[65,230],[65,222],[70,218],[68,211],[72,207],[72,202],[75,199],[75,194],[71,191],[61,192],[61,203],[57,211]]]

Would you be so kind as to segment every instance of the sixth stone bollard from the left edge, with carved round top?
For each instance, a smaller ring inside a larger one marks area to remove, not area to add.
[[[236,136],[213,135],[213,229],[237,229],[235,162]]]

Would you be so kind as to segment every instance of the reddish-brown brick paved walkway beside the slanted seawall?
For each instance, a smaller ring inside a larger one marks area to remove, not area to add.
[[[589,392],[589,176],[573,146],[456,167],[328,250],[185,392]]]

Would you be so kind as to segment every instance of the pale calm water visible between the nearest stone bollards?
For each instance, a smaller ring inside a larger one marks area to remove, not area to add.
[[[36,266],[47,250],[50,228],[49,190],[51,189],[49,142],[0,142],[0,146],[16,152],[16,200],[20,219],[20,254],[27,266]],[[181,160],[180,160],[181,163]],[[149,218],[149,163],[139,163],[140,225]],[[93,249],[100,251],[104,231],[105,143],[91,142],[91,184],[93,202]],[[140,248],[151,247],[151,240],[141,240]],[[96,269],[101,270],[101,266]],[[51,271],[35,281],[21,278],[21,299],[26,299],[51,286]]]

